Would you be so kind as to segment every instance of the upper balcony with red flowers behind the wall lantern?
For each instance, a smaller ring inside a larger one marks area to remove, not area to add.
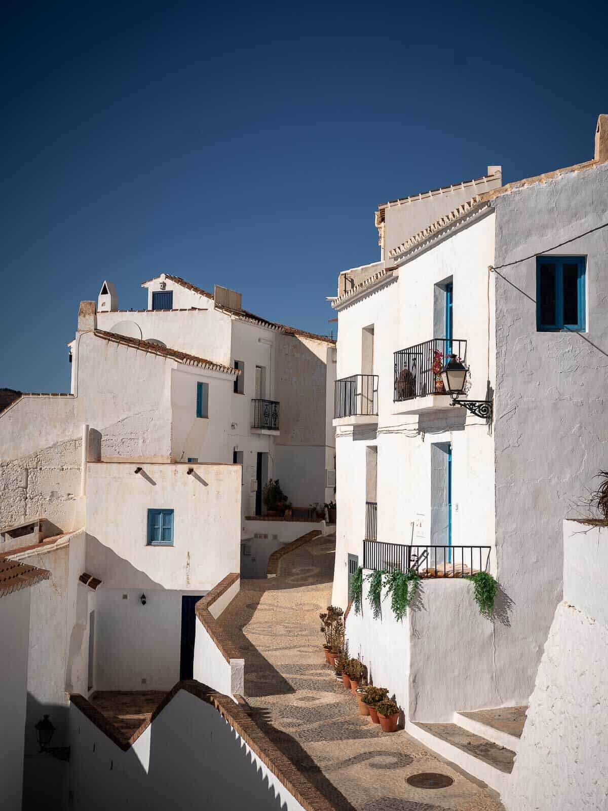
[[[423,414],[450,408],[450,397],[439,376],[445,358],[455,354],[466,363],[467,342],[433,338],[395,353],[393,414]]]

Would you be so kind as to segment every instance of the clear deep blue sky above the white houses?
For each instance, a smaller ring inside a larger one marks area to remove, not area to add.
[[[5,3],[0,386],[67,391],[80,299],[160,272],[328,333],[379,203],[593,157],[602,4]]]

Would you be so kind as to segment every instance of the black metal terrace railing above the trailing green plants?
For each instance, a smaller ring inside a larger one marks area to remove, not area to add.
[[[490,547],[405,546],[364,540],[363,569],[413,569],[420,577],[463,577],[490,571]]]

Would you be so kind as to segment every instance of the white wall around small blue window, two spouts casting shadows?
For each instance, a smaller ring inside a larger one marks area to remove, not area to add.
[[[106,588],[209,590],[240,560],[236,465],[88,464],[87,571]],[[148,546],[148,508],[173,508],[173,546]]]

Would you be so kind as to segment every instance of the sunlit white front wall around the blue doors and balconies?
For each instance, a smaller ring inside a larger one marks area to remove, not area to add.
[[[395,414],[396,350],[434,337],[434,285],[453,277],[454,336],[468,341],[473,388],[486,396],[488,264],[494,219],[485,217],[400,269],[398,281],[339,311],[338,378],[361,370],[362,328],[375,325],[379,419],[374,426],[336,429],[336,573],[333,603],[347,601],[347,556],[362,563],[366,510],[366,446],[378,448],[378,539],[430,543],[431,444],[452,443],[452,543],[494,545],[494,440],[485,421],[452,409]],[[490,279],[490,326],[493,301]],[[474,317],[472,317],[474,314]],[[441,333],[443,335],[443,331]],[[490,347],[490,380],[493,379]],[[403,404],[400,404],[403,405]],[[493,567],[495,565],[492,560]]]

